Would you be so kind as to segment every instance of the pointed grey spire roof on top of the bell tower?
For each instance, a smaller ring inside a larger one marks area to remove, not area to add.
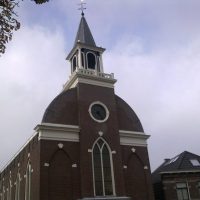
[[[92,33],[90,31],[90,28],[87,24],[87,21],[86,21],[84,15],[82,15],[82,17],[81,17],[81,21],[79,24],[78,32],[76,34],[74,46],[77,44],[77,42],[96,47],[94,38],[92,36]]]

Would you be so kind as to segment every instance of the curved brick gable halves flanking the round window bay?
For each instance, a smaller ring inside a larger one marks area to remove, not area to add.
[[[132,108],[115,95],[120,130],[144,132],[139,118]],[[78,125],[77,88],[59,94],[47,107],[42,123]]]

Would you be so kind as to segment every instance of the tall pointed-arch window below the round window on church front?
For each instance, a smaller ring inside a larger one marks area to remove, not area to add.
[[[115,195],[112,154],[102,138],[93,146],[92,161],[95,196]]]

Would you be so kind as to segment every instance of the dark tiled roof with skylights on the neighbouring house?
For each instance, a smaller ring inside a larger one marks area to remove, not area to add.
[[[184,151],[181,154],[165,161],[152,173],[153,182],[160,180],[162,173],[181,173],[200,171],[200,156]]]

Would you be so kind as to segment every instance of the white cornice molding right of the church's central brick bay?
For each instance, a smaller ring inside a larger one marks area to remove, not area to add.
[[[147,146],[147,139],[150,135],[143,132],[119,130],[120,144],[129,146]]]

